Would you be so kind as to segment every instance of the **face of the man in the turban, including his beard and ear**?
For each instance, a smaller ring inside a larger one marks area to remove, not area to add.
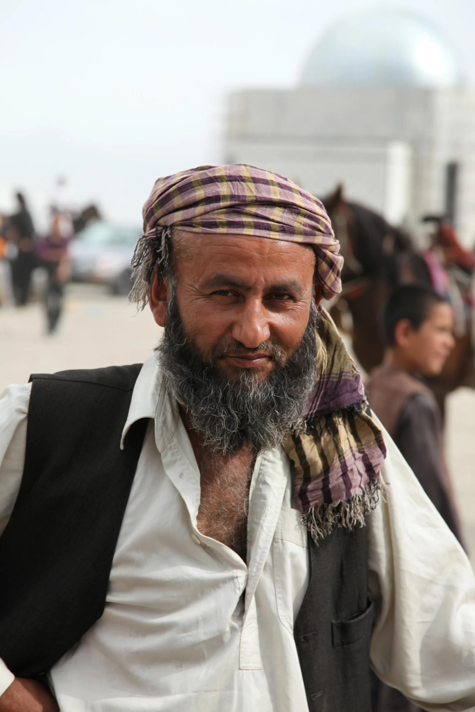
[[[169,392],[209,447],[281,444],[315,384],[311,248],[262,238],[174,234],[174,290],[149,298]]]

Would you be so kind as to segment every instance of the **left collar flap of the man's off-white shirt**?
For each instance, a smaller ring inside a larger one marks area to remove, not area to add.
[[[157,417],[158,414],[160,417]],[[147,358],[135,382],[120,439],[121,450],[124,449],[124,439],[130,426],[142,418],[155,420],[155,439],[162,452],[177,426],[179,411],[176,400],[170,396],[165,385],[155,354]]]

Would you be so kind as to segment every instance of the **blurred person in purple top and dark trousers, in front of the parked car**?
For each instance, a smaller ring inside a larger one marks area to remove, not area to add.
[[[48,334],[56,331],[63,306],[64,286],[71,276],[68,243],[72,229],[69,216],[53,209],[51,228],[38,243],[38,258],[48,272],[45,294]]]

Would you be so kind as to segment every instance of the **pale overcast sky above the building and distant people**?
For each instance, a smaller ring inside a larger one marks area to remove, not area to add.
[[[474,0],[3,0],[0,209],[64,174],[139,224],[157,177],[220,162],[229,90],[296,85],[330,23],[387,5],[442,28],[475,85]]]

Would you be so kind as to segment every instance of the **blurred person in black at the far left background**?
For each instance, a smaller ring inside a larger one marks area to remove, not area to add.
[[[17,193],[16,200],[18,210],[6,221],[4,236],[16,248],[10,258],[11,281],[16,304],[24,306],[30,293],[31,273],[36,267],[35,229],[24,195]]]

